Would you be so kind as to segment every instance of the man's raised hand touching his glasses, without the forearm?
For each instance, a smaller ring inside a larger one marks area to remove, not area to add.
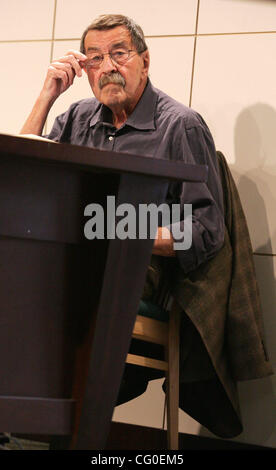
[[[41,96],[50,102],[66,91],[74,82],[75,76],[82,76],[82,61],[86,61],[86,55],[79,51],[68,51],[65,56],[54,60],[48,68]]]

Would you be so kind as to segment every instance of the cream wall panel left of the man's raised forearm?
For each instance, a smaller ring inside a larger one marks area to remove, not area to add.
[[[42,87],[50,42],[0,43],[0,133],[19,133]]]

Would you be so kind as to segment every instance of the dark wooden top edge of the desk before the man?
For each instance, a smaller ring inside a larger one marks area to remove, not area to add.
[[[138,173],[177,181],[206,182],[208,167],[153,157],[110,152],[84,146],[0,134],[0,159],[3,155],[74,165],[85,171],[109,170]]]

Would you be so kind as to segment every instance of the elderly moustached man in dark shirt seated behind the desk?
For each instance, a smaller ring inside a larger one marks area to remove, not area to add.
[[[95,98],[74,103],[59,116],[49,139],[208,165],[207,185],[171,185],[168,194],[170,203],[193,204],[192,246],[177,252],[182,269],[188,272],[214,256],[223,243],[215,147],[197,113],[153,88],[148,78],[149,63],[149,51],[138,25],[121,15],[99,17],[83,33],[81,52],[69,51],[49,66],[21,133],[41,135],[51,106],[84,70]],[[153,253],[175,255],[168,228],[158,229]]]

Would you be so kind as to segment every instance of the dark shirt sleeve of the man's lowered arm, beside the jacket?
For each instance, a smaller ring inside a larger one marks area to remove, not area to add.
[[[186,273],[215,256],[224,242],[223,193],[216,149],[207,125],[201,116],[197,116],[198,125],[182,132],[178,158],[187,163],[207,165],[208,180],[207,183],[182,184],[179,192],[180,221],[173,221],[168,227],[178,246],[181,246],[179,241],[184,239],[183,234],[191,239],[189,248],[184,246],[184,249],[175,250],[180,266]],[[185,215],[184,204],[191,205],[190,216]],[[182,239],[179,238],[180,233]]]

